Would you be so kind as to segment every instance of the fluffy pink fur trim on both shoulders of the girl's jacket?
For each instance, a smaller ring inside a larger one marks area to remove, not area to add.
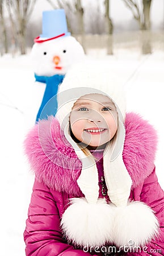
[[[135,113],[125,118],[123,160],[132,179],[132,188],[153,171],[157,133],[152,125]],[[77,179],[82,163],[66,141],[57,119],[41,120],[24,141],[25,152],[39,181],[57,191],[81,195]]]

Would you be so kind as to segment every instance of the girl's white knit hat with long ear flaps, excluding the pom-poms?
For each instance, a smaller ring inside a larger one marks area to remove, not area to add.
[[[85,168],[92,169],[96,168],[96,165],[91,159],[87,158],[86,155],[79,149],[78,145],[73,141],[69,134],[69,115],[72,111],[75,101],[81,96],[86,94],[98,93],[103,94],[111,98],[115,103],[116,110],[118,113],[118,129],[117,138],[115,143],[108,145],[104,151],[104,175],[106,177],[106,183],[108,187],[108,194],[113,204],[127,205],[127,201],[131,192],[132,180],[125,168],[122,152],[125,139],[124,129],[124,116],[125,116],[125,98],[123,88],[121,87],[122,81],[120,77],[115,73],[109,73],[108,69],[104,69],[98,65],[98,63],[85,63],[78,64],[66,74],[64,81],[60,85],[58,93],[58,110],[56,117],[60,122],[61,129],[65,131],[65,137],[68,139],[70,144],[75,149],[79,159],[82,159],[82,172],[78,179],[79,187],[80,183],[86,182],[84,175],[84,181],[81,181],[83,170]],[[119,164],[119,166],[118,166]],[[89,171],[84,171],[89,173]],[[97,174],[96,174],[97,175]],[[93,180],[93,177],[90,177]],[[90,180],[89,180],[90,182]],[[124,185],[123,185],[124,184]],[[96,196],[98,196],[98,175],[95,186]],[[83,191],[86,199],[86,192]],[[93,196],[93,195],[92,195]],[[91,197],[92,197],[91,196]],[[97,200],[98,198],[96,198]],[[88,199],[87,199],[88,200]],[[92,200],[92,199],[91,199]]]

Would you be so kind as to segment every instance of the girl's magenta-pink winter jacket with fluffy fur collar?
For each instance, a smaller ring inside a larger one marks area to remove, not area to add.
[[[146,245],[147,251],[125,255],[164,255],[164,193],[154,167],[157,135],[147,121],[134,113],[126,115],[125,127],[123,160],[133,182],[129,198],[149,205],[160,228],[159,236]],[[77,184],[82,164],[63,138],[57,120],[42,120],[33,127],[25,148],[36,176],[24,231],[26,255],[102,255],[76,249],[62,236],[60,220],[69,199],[82,196]]]

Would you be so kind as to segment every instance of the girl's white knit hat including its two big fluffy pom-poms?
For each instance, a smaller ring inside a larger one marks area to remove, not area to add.
[[[60,85],[56,118],[60,122],[61,129],[64,130],[66,139],[72,144],[75,153],[82,162],[82,170],[77,183],[83,195],[85,195],[85,198],[72,200],[72,204],[65,210],[62,216],[61,225],[68,240],[73,241],[77,245],[101,246],[106,242],[116,243],[117,246],[128,245],[128,238],[131,238],[133,235],[132,223],[127,225],[129,226],[129,233],[127,228],[128,235],[126,234],[125,236],[124,231],[120,230],[121,225],[116,225],[115,221],[121,218],[119,214],[121,214],[123,208],[127,208],[128,219],[128,210],[129,212],[132,210],[134,213],[135,209],[133,208],[140,208],[141,204],[131,204],[131,208],[128,206],[132,180],[123,162],[125,140],[125,97],[122,88],[123,84],[124,80],[122,80],[122,77],[119,77],[117,73],[111,72],[110,68],[100,67],[98,63],[85,63],[78,64],[70,69]],[[107,144],[103,155],[104,177],[111,204],[106,204],[105,199],[99,199],[96,163],[92,158],[87,157],[83,153],[70,136],[69,131],[69,115],[75,101],[79,97],[91,93],[103,94],[111,98],[118,114],[118,128],[115,140]],[[155,223],[154,226],[152,224],[153,228],[151,230],[153,236],[156,232],[157,221],[152,211],[145,205],[144,207],[146,213],[150,215],[152,223]],[[140,222],[144,223],[143,220]],[[145,229],[149,228],[149,226],[150,223],[148,227],[145,226]],[[133,236],[135,240],[134,246],[143,245],[145,241],[149,240],[148,238],[152,238],[149,233],[146,235],[144,233],[142,236],[142,234],[136,232],[136,236]]]

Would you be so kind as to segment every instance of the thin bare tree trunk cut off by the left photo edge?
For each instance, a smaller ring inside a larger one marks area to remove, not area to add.
[[[7,44],[7,32],[5,26],[5,18],[4,18],[4,0],[0,0],[0,26],[2,31],[1,42],[3,48],[5,48],[5,53],[8,52],[8,44]],[[1,51],[1,55],[3,52]]]

